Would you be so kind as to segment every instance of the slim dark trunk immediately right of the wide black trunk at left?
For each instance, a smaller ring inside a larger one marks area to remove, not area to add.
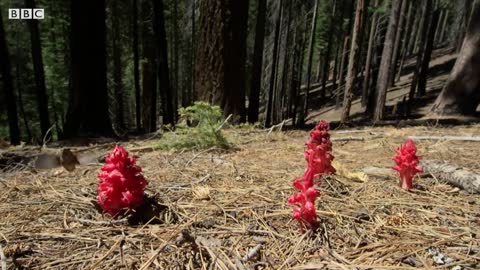
[[[117,1],[112,1],[112,58],[113,58],[113,84],[116,104],[116,124],[123,132],[125,130],[124,107],[123,107],[123,71],[122,53],[120,42],[120,21],[118,20]]]

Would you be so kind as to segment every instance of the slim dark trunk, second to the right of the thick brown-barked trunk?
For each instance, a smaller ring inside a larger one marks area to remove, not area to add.
[[[273,53],[272,53],[272,66],[270,70],[270,83],[268,89],[268,100],[267,100],[267,108],[266,108],[266,116],[265,116],[265,126],[270,126],[272,124],[272,110],[273,110],[273,100],[275,94],[275,77],[277,74],[277,53],[278,53],[278,46],[280,42],[280,24],[282,22],[282,13],[283,13],[283,0],[278,2],[278,11],[277,17],[275,22],[275,33],[273,37]]]

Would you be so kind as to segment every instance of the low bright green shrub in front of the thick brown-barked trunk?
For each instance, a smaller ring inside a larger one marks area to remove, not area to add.
[[[206,102],[195,102],[193,106],[180,108],[182,122],[177,129],[165,133],[160,149],[205,149],[209,147],[229,148],[231,145],[223,136],[224,121],[222,110]],[[194,126],[189,126],[192,123]]]

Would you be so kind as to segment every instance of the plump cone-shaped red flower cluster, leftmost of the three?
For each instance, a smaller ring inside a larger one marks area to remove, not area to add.
[[[127,150],[117,145],[98,174],[97,201],[112,216],[134,208],[144,198],[147,181],[135,162],[135,157],[128,157]]]

